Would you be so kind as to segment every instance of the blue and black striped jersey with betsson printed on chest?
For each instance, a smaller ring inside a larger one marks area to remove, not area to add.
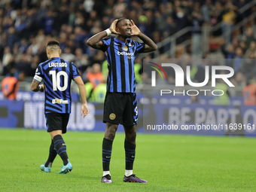
[[[126,44],[117,38],[105,38],[102,43],[108,60],[107,92],[136,93],[134,60],[145,44],[130,38]]]

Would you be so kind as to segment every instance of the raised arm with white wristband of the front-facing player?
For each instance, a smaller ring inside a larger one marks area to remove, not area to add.
[[[93,37],[89,38],[87,40],[87,45],[89,45],[90,47],[93,47],[94,49],[101,49],[102,48],[102,38],[105,38],[105,36],[110,35],[111,33],[114,34],[120,34],[120,32],[116,31],[116,25],[117,25],[117,20],[114,20],[113,23],[111,23],[111,26],[106,29],[103,32],[99,32],[96,35],[93,35]]]

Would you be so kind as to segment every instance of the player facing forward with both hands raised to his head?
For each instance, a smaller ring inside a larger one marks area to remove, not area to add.
[[[116,34],[116,38],[105,38]],[[143,43],[133,41],[138,36]],[[104,39],[102,39],[104,38]],[[134,60],[138,53],[157,50],[157,45],[142,34],[133,20],[120,18],[111,23],[109,29],[99,32],[87,41],[87,45],[102,50],[108,60],[107,94],[105,96],[103,122],[106,123],[105,137],[102,143],[103,183],[112,183],[109,172],[112,143],[118,124],[123,124],[125,131],[126,168],[123,181],[146,183],[133,174],[133,161],[136,151],[136,124],[138,108],[136,100],[136,81]]]

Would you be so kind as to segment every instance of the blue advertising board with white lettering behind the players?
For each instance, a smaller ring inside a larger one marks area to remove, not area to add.
[[[19,94],[18,101],[0,101],[2,127],[45,130],[41,96],[32,92]],[[75,93],[73,98],[75,101],[72,102],[68,129],[105,131],[105,123],[102,123],[103,104],[89,103],[90,114],[84,119],[81,117],[81,103]],[[254,106],[243,105],[242,97],[230,99],[230,105],[226,106],[215,105],[212,96],[200,96],[199,102],[191,102],[190,96],[162,97],[155,94],[143,98],[142,94],[138,94],[138,98],[138,127],[142,131],[143,126],[145,133],[255,134],[256,111]],[[144,126],[145,123],[147,126]]]

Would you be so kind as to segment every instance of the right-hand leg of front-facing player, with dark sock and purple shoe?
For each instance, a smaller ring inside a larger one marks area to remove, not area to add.
[[[147,181],[142,180],[133,174],[133,162],[135,159],[136,151],[136,125],[133,126],[123,126],[125,131],[125,173],[123,181],[125,182],[137,182],[137,183],[147,183]]]

